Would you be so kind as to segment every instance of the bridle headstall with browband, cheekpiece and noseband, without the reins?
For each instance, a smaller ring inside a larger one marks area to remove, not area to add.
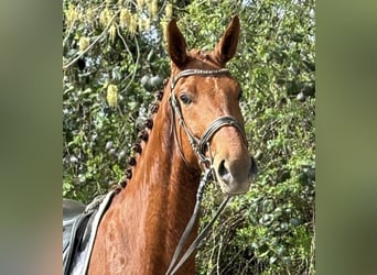
[[[209,141],[215,135],[215,133],[223,127],[235,127],[239,130],[239,132],[243,135],[244,142],[247,143],[246,134],[244,131],[243,125],[238,122],[238,120],[235,117],[231,116],[223,116],[217,118],[215,121],[213,121],[207,130],[202,134],[200,139],[197,139],[190,128],[186,125],[182,111],[181,111],[181,106],[174,95],[174,88],[176,82],[182,78],[182,77],[187,77],[187,76],[194,76],[194,75],[200,75],[200,76],[216,76],[220,74],[228,74],[229,70],[226,68],[222,69],[215,69],[215,70],[202,70],[202,69],[185,69],[180,72],[175,77],[172,78],[171,80],[171,95],[170,95],[170,103],[173,110],[173,114],[176,114],[181,127],[183,128],[184,132],[187,135],[188,142],[191,144],[191,147],[193,148],[194,153],[197,156],[200,166],[202,169],[204,168],[209,168],[213,164],[213,160],[211,156],[211,150],[209,150]],[[209,158],[206,157],[205,152],[206,150],[209,151]],[[180,150],[181,156],[184,158],[182,152]]]

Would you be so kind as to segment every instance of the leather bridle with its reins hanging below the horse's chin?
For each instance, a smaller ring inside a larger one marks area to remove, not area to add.
[[[203,172],[203,177],[201,179],[201,183],[200,183],[200,186],[197,189],[194,212],[193,212],[193,215],[192,215],[192,217],[191,217],[191,219],[190,219],[190,221],[188,221],[188,223],[187,223],[187,226],[186,226],[186,228],[185,228],[185,230],[181,237],[181,240],[180,240],[176,249],[175,249],[175,252],[174,252],[174,255],[173,255],[172,261],[170,263],[170,266],[168,268],[168,272],[165,273],[166,275],[168,274],[169,275],[174,274],[183,265],[183,263],[190,257],[190,255],[195,251],[195,249],[198,248],[198,245],[201,244],[203,239],[208,233],[209,228],[215,222],[215,220],[220,215],[220,212],[224,210],[226,204],[230,199],[230,196],[225,197],[225,199],[223,200],[222,205],[217,209],[213,219],[207,223],[207,226],[202,230],[202,232],[197,235],[197,238],[194,240],[194,242],[188,246],[186,252],[182,255],[180,262],[177,262],[179,256],[181,255],[181,252],[184,248],[184,244],[187,241],[188,235],[192,231],[192,228],[195,223],[195,220],[197,219],[197,216],[200,213],[204,187],[206,186],[207,183],[212,182],[213,179],[216,180],[216,174],[214,173],[214,169],[213,169],[213,157],[212,157],[211,150],[209,150],[211,139],[223,127],[235,127],[239,130],[239,132],[243,135],[244,142],[247,144],[247,139],[246,139],[246,134],[245,134],[243,125],[239,123],[239,121],[235,117],[231,117],[231,116],[223,116],[223,117],[215,119],[209,124],[207,130],[202,134],[202,136],[200,139],[196,138],[192,133],[190,128],[186,125],[184,118],[183,118],[183,114],[182,114],[180,102],[177,101],[176,96],[174,95],[174,88],[176,86],[176,82],[182,77],[197,76],[197,75],[198,76],[217,76],[217,75],[222,75],[222,74],[229,74],[229,70],[226,68],[215,69],[215,70],[185,69],[185,70],[180,72],[175,77],[172,77],[172,79],[171,79],[171,87],[170,87],[171,94],[170,94],[169,100],[170,100],[170,105],[171,105],[171,119],[172,119],[171,125],[172,125],[172,128],[174,128],[174,130],[173,130],[174,131],[174,139],[175,139],[175,142],[177,143],[181,157],[183,158],[183,161],[185,163],[187,163],[183,153],[182,153],[181,144],[177,141],[177,136],[176,136],[177,133],[176,133],[176,129],[174,127],[175,125],[174,116],[176,116],[177,120],[180,122],[180,125],[183,128],[183,130],[184,130],[184,132],[188,139],[188,142],[190,142],[191,147],[193,148],[193,152],[197,156],[198,165]],[[208,150],[209,157],[206,156],[207,150]]]

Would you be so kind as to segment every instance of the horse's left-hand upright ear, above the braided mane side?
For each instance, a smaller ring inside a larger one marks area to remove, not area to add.
[[[170,58],[179,68],[183,67],[187,61],[186,41],[176,26],[175,19],[172,19],[168,24],[166,40]]]

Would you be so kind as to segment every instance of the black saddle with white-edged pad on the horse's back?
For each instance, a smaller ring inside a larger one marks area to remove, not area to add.
[[[63,274],[87,273],[98,224],[114,191],[96,197],[89,205],[63,198]]]

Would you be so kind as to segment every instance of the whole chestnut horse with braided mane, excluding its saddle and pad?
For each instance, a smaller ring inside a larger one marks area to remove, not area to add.
[[[99,224],[88,274],[165,274],[193,213],[203,167],[211,165],[226,195],[249,189],[256,164],[244,132],[240,86],[225,69],[239,31],[234,16],[213,52],[187,53],[176,21],[168,24],[171,77],[141,136],[127,186]],[[188,243],[197,228],[196,222]],[[177,274],[195,274],[194,254]]]

